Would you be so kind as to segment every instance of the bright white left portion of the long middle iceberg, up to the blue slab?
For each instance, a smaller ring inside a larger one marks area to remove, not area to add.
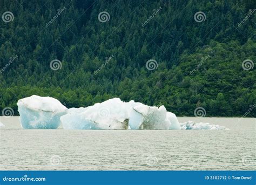
[[[113,98],[80,112],[72,109],[60,120],[64,129],[128,129],[130,109],[131,104]]]

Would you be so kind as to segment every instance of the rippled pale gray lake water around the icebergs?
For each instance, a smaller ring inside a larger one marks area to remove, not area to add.
[[[255,118],[178,118],[230,130],[22,129],[0,121],[0,170],[255,170]]]

